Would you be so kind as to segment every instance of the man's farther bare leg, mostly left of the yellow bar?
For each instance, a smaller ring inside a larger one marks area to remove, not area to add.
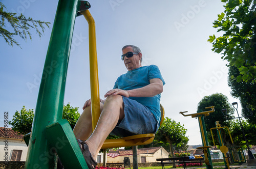
[[[100,103],[100,110],[102,111],[103,104]],[[86,140],[93,132],[92,129],[92,113],[91,105],[84,108],[80,118],[78,119],[74,130],[75,137],[77,139]]]

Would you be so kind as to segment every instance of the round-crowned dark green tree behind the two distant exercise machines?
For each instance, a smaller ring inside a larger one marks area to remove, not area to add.
[[[216,127],[215,122],[219,121],[221,126],[227,126],[230,127],[230,121],[226,120],[225,117],[222,114],[222,109],[227,109],[227,118],[231,118],[232,115],[234,114],[234,108],[231,106],[231,104],[228,103],[228,98],[221,94],[221,93],[216,93],[212,94],[210,96],[205,96],[199,103],[198,103],[198,110],[202,111],[208,111],[209,109],[206,109],[205,107],[209,106],[215,106],[215,112],[211,112],[209,116],[206,116],[204,118],[205,122],[205,128],[206,128],[206,133],[208,137],[208,142],[210,145],[213,144],[211,140],[211,133],[210,129]],[[213,132],[215,143],[218,144],[219,140],[217,139],[217,133]],[[230,144],[228,141],[230,138],[227,136],[224,130],[222,130],[222,135],[225,138],[226,142],[224,143],[225,146],[228,146]]]

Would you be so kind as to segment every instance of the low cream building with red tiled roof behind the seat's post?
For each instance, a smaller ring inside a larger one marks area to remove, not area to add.
[[[168,158],[169,153],[163,147],[152,147],[138,149],[138,163],[157,162],[157,158]],[[133,150],[109,151],[106,162],[116,163],[123,162],[124,157],[129,157],[131,163],[133,162]]]

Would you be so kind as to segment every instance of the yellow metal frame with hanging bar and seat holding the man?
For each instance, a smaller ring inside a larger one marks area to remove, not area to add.
[[[89,10],[80,12],[89,24],[89,53],[90,53],[90,81],[91,81],[91,107],[92,107],[92,128],[95,129],[100,117],[100,98],[98,80],[98,61],[96,51],[96,29],[95,21]],[[164,119],[164,109],[161,107],[161,123]],[[127,147],[136,145],[147,145],[153,142],[155,134],[139,134],[118,139],[106,139],[101,149]]]

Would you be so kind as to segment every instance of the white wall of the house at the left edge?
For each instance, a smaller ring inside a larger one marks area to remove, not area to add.
[[[0,161],[10,161],[13,150],[22,150],[20,161],[26,161],[28,147],[24,140],[15,138],[0,138]]]

